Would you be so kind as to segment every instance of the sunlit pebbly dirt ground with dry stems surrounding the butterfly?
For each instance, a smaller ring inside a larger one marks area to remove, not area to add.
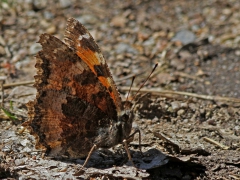
[[[1,0],[0,178],[240,179],[239,8],[238,0]],[[21,126],[36,94],[39,35],[63,39],[68,17],[90,30],[123,99],[134,75],[132,96],[159,64],[135,98],[137,169],[119,145],[79,172],[84,159],[44,156]]]

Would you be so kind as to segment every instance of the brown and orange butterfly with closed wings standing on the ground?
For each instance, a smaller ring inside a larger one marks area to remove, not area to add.
[[[97,148],[126,145],[132,136],[132,103],[121,100],[89,31],[69,18],[64,42],[42,34],[39,43],[37,95],[27,104],[25,123],[36,137],[36,148],[51,157],[89,158]]]

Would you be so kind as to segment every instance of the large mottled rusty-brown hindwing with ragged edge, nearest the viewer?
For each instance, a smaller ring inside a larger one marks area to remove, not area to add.
[[[71,23],[74,22],[69,21],[68,29],[74,26]],[[35,66],[38,93],[36,99],[28,103],[26,124],[36,135],[37,146],[46,147],[50,156],[86,156],[99,129],[109,126],[112,120],[117,121],[109,87],[106,88],[96,71],[92,72],[89,67],[99,62],[92,62],[96,57],[90,51],[81,59],[82,56],[54,36],[43,34],[39,42],[42,51],[36,55]],[[91,46],[86,42],[78,50],[90,50]],[[88,56],[93,56],[90,64],[86,64]]]

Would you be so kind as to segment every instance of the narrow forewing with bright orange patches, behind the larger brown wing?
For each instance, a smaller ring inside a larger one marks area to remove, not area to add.
[[[65,31],[65,42],[89,66],[91,71],[107,88],[114,100],[117,112],[120,114],[122,111],[121,97],[100,48],[88,30],[79,21],[69,18]]]

